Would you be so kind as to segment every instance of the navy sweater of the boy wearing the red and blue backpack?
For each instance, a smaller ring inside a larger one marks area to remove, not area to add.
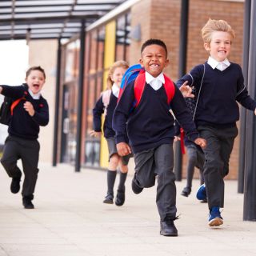
[[[126,142],[126,129],[133,153],[149,150],[162,144],[169,144],[174,139],[174,112],[178,122],[186,131],[187,136],[194,141],[198,131],[190,117],[186,102],[175,86],[174,98],[167,103],[166,90],[162,86],[154,90],[146,83],[138,106],[131,111],[134,102],[134,82],[130,82],[122,93],[118,106],[114,110],[113,129],[116,141]]]

